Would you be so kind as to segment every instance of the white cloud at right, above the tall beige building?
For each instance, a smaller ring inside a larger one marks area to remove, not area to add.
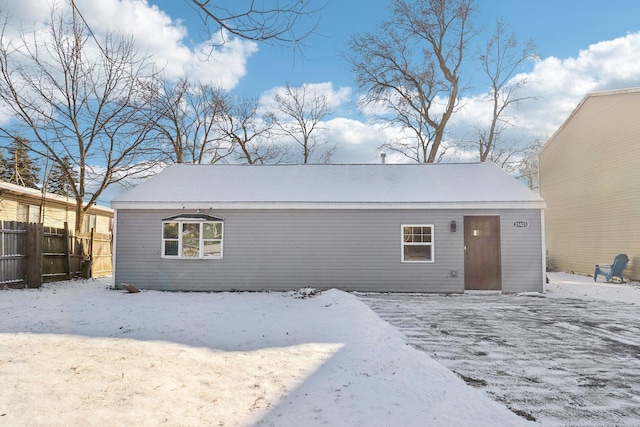
[[[514,77],[522,78],[528,84],[520,95],[531,99],[508,111],[512,126],[501,135],[507,145],[527,145],[536,139],[545,142],[588,93],[640,86],[640,33],[593,44],[576,57],[539,60],[531,71]],[[473,140],[476,128],[488,126],[490,104],[483,94],[463,98],[461,104],[448,136]]]

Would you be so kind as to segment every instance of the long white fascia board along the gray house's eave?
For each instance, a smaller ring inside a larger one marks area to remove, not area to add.
[[[317,203],[317,202],[112,202],[113,209],[199,209],[203,210],[285,210],[285,209],[545,209],[546,202],[503,201],[503,202],[426,202],[426,203]]]

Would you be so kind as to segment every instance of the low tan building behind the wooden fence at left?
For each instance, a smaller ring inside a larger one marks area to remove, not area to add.
[[[0,181],[0,221],[38,222],[55,228],[64,228],[66,222],[73,230],[75,206],[74,199]],[[83,232],[110,233],[112,228],[113,210],[108,207],[92,206],[84,216]]]

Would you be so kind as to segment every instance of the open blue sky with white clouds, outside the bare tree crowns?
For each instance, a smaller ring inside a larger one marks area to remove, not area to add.
[[[60,1],[60,0],[58,0]],[[219,0],[233,4],[236,0]],[[167,78],[185,72],[192,79],[220,84],[242,96],[260,97],[268,105],[285,84],[312,85],[326,94],[333,115],[320,135],[338,146],[334,163],[379,161],[379,147],[399,132],[385,128],[358,106],[348,53],[352,35],[374,32],[389,16],[389,0],[313,0],[325,4],[315,33],[294,51],[232,40],[205,58],[201,23],[184,0],[76,0],[98,36],[104,31],[131,33],[141,51],[154,55]],[[6,8],[24,22],[43,20],[48,3],[9,0]],[[546,141],[590,92],[640,86],[640,2],[637,0],[476,0],[474,20],[484,30],[482,45],[496,20],[504,20],[521,42],[533,38],[539,60],[521,70],[532,98],[509,112],[513,125],[504,144]],[[215,35],[213,36],[215,37]],[[207,59],[207,60],[205,60]],[[473,72],[472,68],[467,70]],[[469,76],[467,76],[468,78]],[[450,121],[446,142],[473,141],[475,129],[488,120],[482,85],[463,94],[461,109]],[[0,121],[2,117],[0,108]],[[475,151],[452,149],[446,161],[474,161]],[[388,162],[407,159],[387,156]]]

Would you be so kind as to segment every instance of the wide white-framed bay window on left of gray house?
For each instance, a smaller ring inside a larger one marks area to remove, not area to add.
[[[208,215],[182,215],[162,221],[162,257],[222,258],[224,224]]]

